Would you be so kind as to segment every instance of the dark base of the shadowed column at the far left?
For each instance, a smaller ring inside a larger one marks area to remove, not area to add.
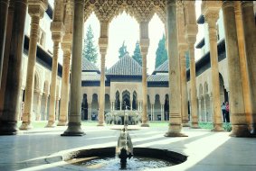
[[[17,121],[0,121],[0,135],[16,135]]]

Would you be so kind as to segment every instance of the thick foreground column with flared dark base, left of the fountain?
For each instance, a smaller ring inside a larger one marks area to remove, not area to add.
[[[62,136],[81,136],[81,51],[83,41],[84,1],[74,1],[73,42],[71,62],[71,109],[68,129]]]

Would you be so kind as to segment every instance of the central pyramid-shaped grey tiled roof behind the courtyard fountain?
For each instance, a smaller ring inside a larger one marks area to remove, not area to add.
[[[142,67],[137,61],[127,55],[109,68],[106,75],[109,76],[142,76]]]

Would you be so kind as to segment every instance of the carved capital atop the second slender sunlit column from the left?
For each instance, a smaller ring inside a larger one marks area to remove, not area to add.
[[[53,41],[62,41],[64,25],[62,22],[52,22],[50,30],[52,31],[52,40]]]

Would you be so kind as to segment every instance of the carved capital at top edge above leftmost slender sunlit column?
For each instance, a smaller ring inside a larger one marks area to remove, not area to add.
[[[28,0],[28,14],[43,18],[43,14],[48,7],[47,0]]]

